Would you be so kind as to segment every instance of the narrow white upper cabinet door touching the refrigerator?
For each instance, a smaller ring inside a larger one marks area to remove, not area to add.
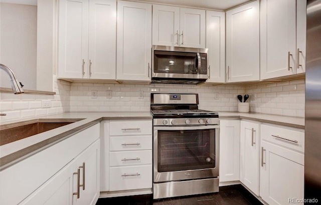
[[[296,2],[296,73],[305,73],[306,0]]]

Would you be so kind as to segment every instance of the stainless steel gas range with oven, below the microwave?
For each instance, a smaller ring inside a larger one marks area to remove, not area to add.
[[[153,198],[219,190],[219,116],[198,94],[151,94]]]

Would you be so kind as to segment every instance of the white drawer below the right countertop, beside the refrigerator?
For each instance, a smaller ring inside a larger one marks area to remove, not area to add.
[[[304,152],[304,132],[261,125],[261,138],[297,151]]]

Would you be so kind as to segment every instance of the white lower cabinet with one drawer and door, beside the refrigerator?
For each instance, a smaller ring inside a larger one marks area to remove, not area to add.
[[[270,205],[291,204],[290,198],[304,197],[304,154],[298,151],[304,132],[261,127],[260,196]]]

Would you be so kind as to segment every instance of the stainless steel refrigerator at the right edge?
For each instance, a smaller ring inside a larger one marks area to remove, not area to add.
[[[304,198],[321,202],[321,0],[307,1]]]

